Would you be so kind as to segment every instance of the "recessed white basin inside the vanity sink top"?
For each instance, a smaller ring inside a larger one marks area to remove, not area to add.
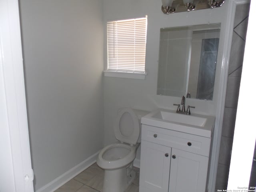
[[[200,127],[204,126],[207,120],[207,118],[178,114],[162,110],[154,114],[152,118],[170,121],[171,123],[182,123]]]

